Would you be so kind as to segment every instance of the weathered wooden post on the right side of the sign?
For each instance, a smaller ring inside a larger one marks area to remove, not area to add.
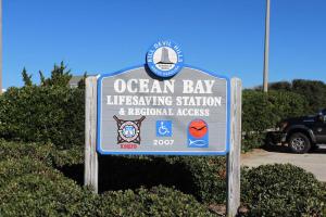
[[[230,148],[227,154],[227,216],[235,217],[240,206],[241,93],[239,78],[231,79]]]

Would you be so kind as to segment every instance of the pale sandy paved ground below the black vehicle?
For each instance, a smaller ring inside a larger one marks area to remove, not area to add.
[[[286,148],[277,146],[273,151],[261,149],[241,154],[241,165],[255,167],[264,164],[290,163],[313,173],[321,181],[326,182],[326,146],[306,154],[287,153]]]

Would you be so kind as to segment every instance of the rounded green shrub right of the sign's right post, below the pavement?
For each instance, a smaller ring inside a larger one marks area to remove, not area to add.
[[[311,173],[290,164],[243,169],[241,200],[248,216],[322,216],[323,186]]]

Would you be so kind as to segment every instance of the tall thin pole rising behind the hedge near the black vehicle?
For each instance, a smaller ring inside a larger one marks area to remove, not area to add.
[[[266,0],[264,80],[263,80],[264,92],[268,91],[269,9],[271,9],[271,0]]]

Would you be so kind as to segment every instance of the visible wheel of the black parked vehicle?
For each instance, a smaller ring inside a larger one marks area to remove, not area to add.
[[[309,152],[311,149],[311,143],[305,135],[297,132],[290,137],[289,148],[293,153],[303,154]]]

